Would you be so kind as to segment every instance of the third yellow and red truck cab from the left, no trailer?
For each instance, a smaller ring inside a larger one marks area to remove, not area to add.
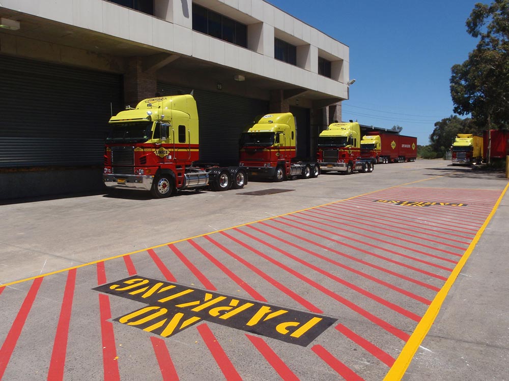
[[[360,126],[357,122],[332,123],[318,137],[317,161],[322,173],[373,172],[371,157],[361,157]]]

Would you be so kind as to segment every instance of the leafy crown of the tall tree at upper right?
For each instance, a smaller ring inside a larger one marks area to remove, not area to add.
[[[477,3],[466,21],[468,33],[479,38],[461,65],[451,68],[454,112],[471,114],[485,128],[509,125],[509,0]]]

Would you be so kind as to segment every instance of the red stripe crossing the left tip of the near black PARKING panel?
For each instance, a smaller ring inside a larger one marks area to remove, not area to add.
[[[104,262],[97,263],[97,284],[101,285],[107,282],[106,272],[104,271]],[[102,336],[102,363],[104,368],[104,381],[120,380],[119,363],[117,361],[117,348],[115,344],[115,332],[113,324],[108,322],[111,319],[111,309],[109,306],[109,297],[105,294],[99,294],[99,312],[101,320]]]

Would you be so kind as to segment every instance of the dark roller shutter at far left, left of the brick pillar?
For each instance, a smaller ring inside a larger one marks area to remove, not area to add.
[[[103,162],[122,76],[0,56],[0,167]]]

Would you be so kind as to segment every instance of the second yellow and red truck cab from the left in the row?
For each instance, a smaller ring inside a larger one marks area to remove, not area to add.
[[[240,163],[249,176],[282,181],[318,177],[316,161],[297,157],[297,131],[292,113],[258,116],[240,138]]]

